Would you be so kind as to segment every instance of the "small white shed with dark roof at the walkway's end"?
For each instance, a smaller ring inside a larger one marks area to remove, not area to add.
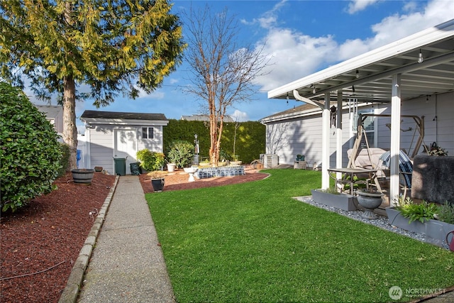
[[[85,123],[82,162],[87,168],[103,167],[114,175],[115,158],[126,158],[128,175],[130,164],[138,162],[138,150],[163,153],[162,127],[169,123],[164,114],[84,111],[80,119]]]

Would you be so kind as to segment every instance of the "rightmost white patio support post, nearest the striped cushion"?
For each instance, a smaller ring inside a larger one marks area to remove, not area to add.
[[[400,78],[401,75],[392,76],[391,97],[391,162],[389,180],[389,204],[395,206],[399,199],[399,150],[400,150]]]

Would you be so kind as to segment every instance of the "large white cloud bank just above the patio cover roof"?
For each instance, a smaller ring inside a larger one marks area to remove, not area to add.
[[[366,5],[360,2],[355,3]],[[367,5],[372,4],[372,1],[366,2]],[[268,28],[267,36],[257,49],[265,44],[262,52],[269,54],[270,66],[266,68],[267,75],[256,79],[256,84],[263,90],[275,89],[310,75],[321,67],[350,59],[454,18],[454,1],[433,0],[421,6],[419,11],[415,10],[416,6],[409,5],[404,5],[403,9],[405,13],[388,16],[372,25],[372,36],[363,40],[336,42],[331,35],[312,37],[289,28]]]

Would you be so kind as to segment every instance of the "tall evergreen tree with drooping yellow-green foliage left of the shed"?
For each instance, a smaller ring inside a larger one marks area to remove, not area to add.
[[[181,62],[182,28],[167,0],[1,0],[1,78],[41,99],[58,94],[63,139],[76,167],[75,101],[104,106],[151,92]],[[77,94],[87,84],[89,93]]]

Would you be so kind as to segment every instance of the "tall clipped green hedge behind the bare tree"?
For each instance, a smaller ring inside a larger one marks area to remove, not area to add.
[[[236,123],[224,123],[221,150],[233,156],[233,138]],[[194,143],[194,135],[199,140],[201,159],[209,157],[209,123],[170,119],[164,127],[164,149],[169,150],[172,141],[183,140]],[[250,163],[265,153],[265,126],[258,121],[240,122],[236,131],[235,153],[238,160]],[[232,159],[229,159],[232,160]]]

